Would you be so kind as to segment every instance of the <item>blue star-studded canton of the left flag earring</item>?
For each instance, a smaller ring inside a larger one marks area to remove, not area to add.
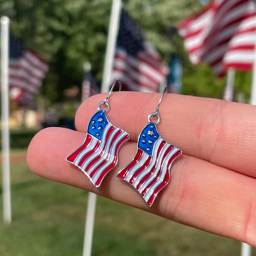
[[[99,110],[92,116],[88,124],[87,133],[101,140],[103,130],[107,124],[108,119],[106,117],[106,112],[104,110]]]

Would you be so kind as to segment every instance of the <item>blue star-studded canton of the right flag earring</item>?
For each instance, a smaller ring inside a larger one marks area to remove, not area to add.
[[[152,156],[154,145],[159,137],[160,135],[156,130],[156,124],[153,122],[148,123],[140,133],[138,148]]]

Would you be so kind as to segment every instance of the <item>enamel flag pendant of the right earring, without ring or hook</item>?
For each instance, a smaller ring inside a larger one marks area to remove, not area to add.
[[[151,206],[170,179],[172,161],[180,155],[181,150],[166,142],[159,135],[156,124],[150,122],[140,133],[135,157],[117,177],[132,184]]]

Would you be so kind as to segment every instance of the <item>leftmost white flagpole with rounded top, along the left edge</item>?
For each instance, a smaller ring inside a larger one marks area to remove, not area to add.
[[[1,116],[3,217],[11,223],[10,145],[9,145],[9,18],[1,18]]]

